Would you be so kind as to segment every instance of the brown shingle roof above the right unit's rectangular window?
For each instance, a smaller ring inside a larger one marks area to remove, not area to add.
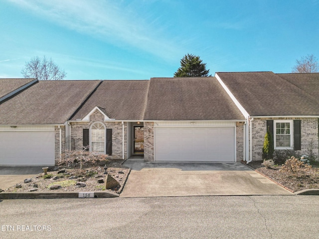
[[[298,77],[299,74],[291,76],[273,72],[216,72],[216,74],[251,116],[319,115],[319,99],[316,97],[319,81],[316,83],[314,79],[306,87],[303,84],[307,83],[307,77]],[[314,89],[307,93],[305,89],[311,87]]]

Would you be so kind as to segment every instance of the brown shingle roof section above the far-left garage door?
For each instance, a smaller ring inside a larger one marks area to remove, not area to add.
[[[64,123],[101,81],[39,81],[0,104],[0,124]]]

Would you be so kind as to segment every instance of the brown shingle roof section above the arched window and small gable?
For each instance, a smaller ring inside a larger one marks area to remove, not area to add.
[[[71,120],[83,119],[99,107],[110,119],[142,120],[149,80],[104,80]]]

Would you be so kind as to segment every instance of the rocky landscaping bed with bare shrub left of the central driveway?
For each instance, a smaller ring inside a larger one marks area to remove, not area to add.
[[[55,167],[48,169],[46,175],[40,173],[30,178],[31,181],[20,182],[4,192],[103,192],[108,190],[120,194],[130,173],[130,169],[120,162],[121,160],[100,161],[83,165],[83,169],[80,169],[79,165]],[[105,167],[106,173],[119,183],[118,186],[106,189]],[[50,189],[52,185],[60,185],[60,187]]]

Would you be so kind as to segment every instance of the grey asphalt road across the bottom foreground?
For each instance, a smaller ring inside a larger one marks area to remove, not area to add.
[[[0,201],[1,239],[319,239],[318,222],[319,196]]]

